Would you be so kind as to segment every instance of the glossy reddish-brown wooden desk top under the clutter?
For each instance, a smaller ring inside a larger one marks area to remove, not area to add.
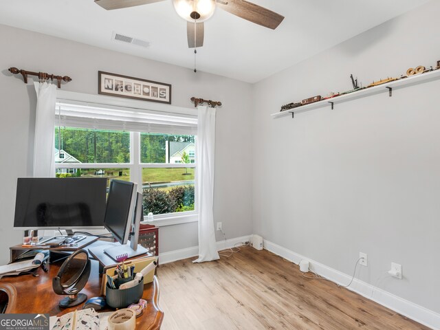
[[[56,276],[62,263],[47,265],[49,272],[43,272],[41,267],[37,274],[10,276],[0,279],[0,291],[6,292],[9,296],[9,303],[6,313],[39,313],[50,314],[50,316],[60,316],[75,309],[83,308],[83,304],[76,307],[62,309],[58,307],[58,302],[64,296],[58,296],[52,289],[52,278]],[[91,261],[91,274],[89,282],[81,291],[87,294],[87,298],[100,296],[101,276],[98,273],[98,262]],[[136,319],[136,330],[160,329],[164,312],[159,308],[159,283],[156,276],[152,283],[144,285],[144,296],[147,300],[144,314]],[[103,309],[101,311],[112,311]]]

